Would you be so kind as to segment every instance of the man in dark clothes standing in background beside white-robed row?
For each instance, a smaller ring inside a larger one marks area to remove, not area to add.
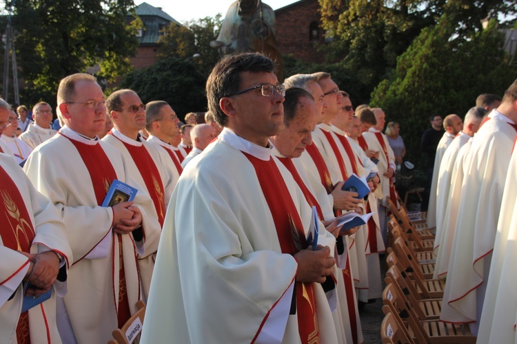
[[[422,205],[420,210],[427,212],[429,207],[429,195],[431,195],[431,183],[433,180],[434,158],[436,157],[436,147],[442,138],[445,130],[442,127],[443,119],[440,115],[434,115],[429,118],[431,127],[424,131],[422,140],[420,140],[420,151],[424,153],[424,168],[426,182],[424,193],[422,195]]]

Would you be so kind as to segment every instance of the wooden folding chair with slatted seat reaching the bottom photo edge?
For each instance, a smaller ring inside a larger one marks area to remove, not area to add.
[[[383,291],[383,303],[392,310],[392,313],[406,316],[408,329],[412,330],[416,343],[476,343],[476,336],[472,335],[467,325],[434,320],[419,321],[411,305],[403,301],[392,283],[389,283]]]

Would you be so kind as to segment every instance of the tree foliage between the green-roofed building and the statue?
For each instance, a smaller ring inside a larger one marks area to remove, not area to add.
[[[221,29],[221,14],[216,17],[205,17],[195,21],[187,21],[183,25],[169,25],[165,28],[159,43],[161,58],[170,56],[192,59],[201,74],[208,76],[212,67],[219,61],[219,52],[210,47]],[[193,58],[194,54],[199,57]]]

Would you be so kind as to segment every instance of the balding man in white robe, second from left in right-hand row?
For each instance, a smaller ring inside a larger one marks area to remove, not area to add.
[[[445,149],[445,153],[443,153],[443,158],[440,162],[440,169],[438,171],[436,191],[436,237],[434,240],[434,250],[437,252],[437,256],[439,254],[436,250],[439,250],[441,236],[444,234],[443,228],[447,226],[447,223],[444,222],[445,213],[447,208],[451,208],[449,200],[451,199],[450,190],[452,189],[452,171],[456,163],[456,156],[458,155],[460,148],[463,147],[470,138],[474,137],[474,133],[478,132],[483,116],[486,114],[487,111],[483,109],[483,107],[472,107],[472,109],[469,109],[465,115],[463,130],[456,135],[451,144],[449,144],[449,147]],[[445,278],[443,275],[439,276],[441,273],[439,270],[440,269],[434,269],[435,278]]]

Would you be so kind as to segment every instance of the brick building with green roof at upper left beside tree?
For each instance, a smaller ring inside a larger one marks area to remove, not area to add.
[[[135,12],[143,22],[144,28],[138,34],[139,49],[135,56],[130,57],[130,62],[134,69],[139,70],[150,67],[158,61],[160,31],[167,25],[180,25],[180,23],[163,12],[161,8],[145,2],[136,6]],[[130,16],[128,19],[131,20],[132,17]]]

